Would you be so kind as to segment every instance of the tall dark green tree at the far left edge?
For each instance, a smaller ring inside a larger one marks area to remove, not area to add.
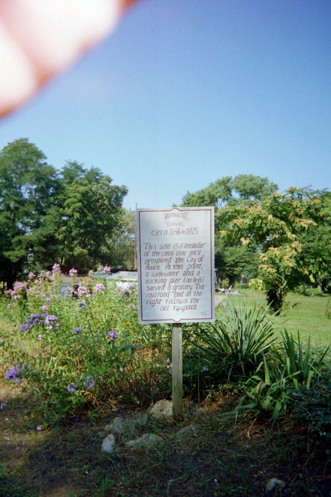
[[[56,169],[27,138],[1,150],[0,279],[7,288],[48,258],[55,233],[50,208],[58,191]]]

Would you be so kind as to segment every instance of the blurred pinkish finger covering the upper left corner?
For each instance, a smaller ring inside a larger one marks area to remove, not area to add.
[[[0,115],[107,36],[132,0],[0,0]]]

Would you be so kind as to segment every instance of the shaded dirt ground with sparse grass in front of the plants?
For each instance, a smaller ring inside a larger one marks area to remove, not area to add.
[[[104,419],[81,415],[39,431],[36,406],[20,387],[2,386],[0,402],[6,402],[0,411],[1,497],[331,496],[330,460],[310,457],[306,434],[290,426],[269,437],[250,422],[235,433],[233,424],[211,416],[201,436],[180,444],[173,436],[179,426],[155,423],[149,429],[167,441],[160,451],[121,448],[114,458],[101,453],[103,428],[115,416],[130,416],[128,406],[114,406]],[[267,492],[273,477],[285,486]]]

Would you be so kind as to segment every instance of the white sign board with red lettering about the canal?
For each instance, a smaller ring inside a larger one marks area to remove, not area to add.
[[[137,209],[139,323],[214,321],[214,209]]]

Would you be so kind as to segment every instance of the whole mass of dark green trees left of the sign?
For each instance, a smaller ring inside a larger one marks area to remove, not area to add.
[[[45,154],[21,138],[0,152],[0,281],[61,261],[88,271],[109,258],[122,222],[126,186],[97,167],[67,161],[59,173]],[[69,267],[70,266],[70,267]]]

